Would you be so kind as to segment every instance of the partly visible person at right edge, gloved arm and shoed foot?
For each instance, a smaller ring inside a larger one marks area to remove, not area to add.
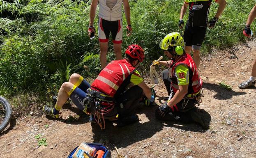
[[[256,5],[254,5],[253,9],[251,9],[251,12],[248,16],[248,19],[243,31],[244,36],[251,38],[252,36],[251,23],[254,21],[255,18],[256,18]],[[240,89],[245,89],[247,87],[254,87],[255,83],[256,83],[256,58],[252,65],[251,77],[248,80],[240,83],[238,87]]]

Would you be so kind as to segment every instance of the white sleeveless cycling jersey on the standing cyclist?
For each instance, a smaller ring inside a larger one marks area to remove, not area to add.
[[[113,2],[116,2],[115,5],[113,5]],[[110,5],[111,3],[112,5]],[[107,21],[120,20],[122,18],[122,0],[99,0],[99,17]]]

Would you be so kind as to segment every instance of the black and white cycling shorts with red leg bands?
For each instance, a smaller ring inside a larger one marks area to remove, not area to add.
[[[100,42],[108,42],[109,34],[111,32],[112,41],[114,44],[122,43],[122,19],[118,21],[107,21],[99,17],[98,33]]]

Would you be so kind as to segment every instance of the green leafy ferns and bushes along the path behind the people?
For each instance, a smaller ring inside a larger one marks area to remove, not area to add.
[[[72,73],[95,78],[101,68],[99,42],[87,35],[90,2],[0,0],[0,95],[8,98],[17,93],[36,92],[43,98],[47,90],[57,91]],[[217,25],[208,29],[204,53],[210,52],[213,46],[225,48],[245,39],[242,29],[254,1],[227,2]],[[178,28],[182,4],[181,0],[130,1],[133,34],[126,37],[124,31],[122,50],[134,43],[145,48],[145,62],[140,69],[148,69],[152,59],[162,55],[159,41],[166,34],[183,34]],[[213,2],[209,19],[217,7]],[[123,24],[125,29],[125,18]],[[97,30],[97,18],[95,26]],[[112,44],[109,52],[113,52]],[[108,61],[114,58],[114,53],[108,53]]]

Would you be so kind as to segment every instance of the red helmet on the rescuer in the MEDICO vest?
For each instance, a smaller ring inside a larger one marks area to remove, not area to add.
[[[140,62],[144,60],[144,50],[141,48],[141,46],[137,44],[132,44],[128,46],[125,54],[129,55],[133,59],[138,59],[138,61]]]

